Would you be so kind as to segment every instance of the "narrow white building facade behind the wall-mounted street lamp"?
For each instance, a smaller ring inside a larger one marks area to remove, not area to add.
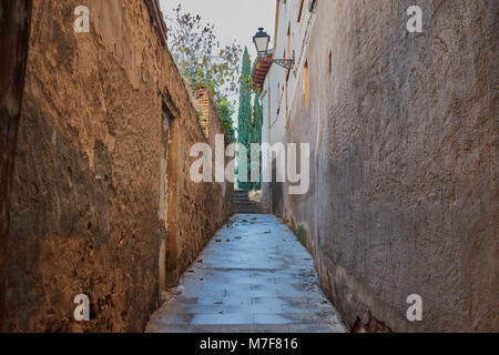
[[[312,31],[317,19],[315,11],[315,0],[277,0],[276,22],[273,33],[274,59],[294,59],[295,64],[292,70],[287,70],[277,64],[269,67],[266,71],[265,81],[261,85],[261,102],[263,104],[263,129],[262,142],[271,145],[275,143],[288,143],[289,132],[293,121],[293,105],[297,99],[303,98],[309,105],[309,62],[307,49],[312,40]],[[268,155],[263,154],[263,169],[275,171]],[[275,172],[274,172],[275,174]],[[275,175],[274,180],[275,181]],[[267,202],[273,206],[274,212],[284,214],[282,206],[283,199],[278,191],[285,189],[285,184],[277,184],[277,196],[272,199],[269,193],[271,184],[264,183],[263,190]]]

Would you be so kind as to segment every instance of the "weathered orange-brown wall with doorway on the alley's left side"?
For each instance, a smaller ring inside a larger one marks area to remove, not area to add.
[[[73,31],[81,4],[90,33]],[[207,140],[156,1],[40,0],[31,19],[4,329],[140,332],[230,194],[189,179]],[[91,321],[77,323],[81,293]]]

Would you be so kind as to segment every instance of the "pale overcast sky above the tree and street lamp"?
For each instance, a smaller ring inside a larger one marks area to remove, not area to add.
[[[169,16],[179,3],[184,10],[200,14],[215,26],[215,34],[222,44],[235,40],[241,48],[246,45],[252,60],[256,57],[252,39],[258,27],[265,28],[271,36],[274,33],[274,0],[160,0],[160,3],[163,13]]]

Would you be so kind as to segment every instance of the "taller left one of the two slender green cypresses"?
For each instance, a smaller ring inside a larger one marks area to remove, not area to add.
[[[243,54],[243,65],[241,70],[241,78],[240,78],[240,110],[237,113],[237,143],[244,145],[247,150],[247,176],[248,180],[251,180],[251,150],[249,150],[249,143],[252,138],[252,62],[249,59],[249,53],[247,52],[247,48],[244,48],[244,54]],[[242,164],[243,160],[241,156],[241,152],[237,155],[237,165],[238,165],[238,172],[242,172]],[[248,182],[242,182],[241,176],[237,176],[237,185],[240,189],[243,190],[251,190],[252,183]]]

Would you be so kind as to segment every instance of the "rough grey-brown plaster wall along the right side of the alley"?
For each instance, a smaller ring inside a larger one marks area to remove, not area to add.
[[[493,0],[317,2],[310,103],[295,95],[288,133],[312,144],[312,186],[284,195],[284,216],[350,327],[499,329],[497,14]]]

